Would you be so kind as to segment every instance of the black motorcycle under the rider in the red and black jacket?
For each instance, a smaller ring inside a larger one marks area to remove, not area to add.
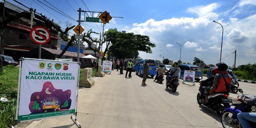
[[[212,93],[208,96],[208,102],[205,102],[204,86],[200,83],[199,92],[197,93],[196,99],[199,105],[204,106],[214,110],[220,116],[224,108],[230,108],[229,103],[232,103],[231,99],[228,99],[229,93]]]

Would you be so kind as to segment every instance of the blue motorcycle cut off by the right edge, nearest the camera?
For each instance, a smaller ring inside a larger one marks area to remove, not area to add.
[[[240,93],[243,94],[243,90],[242,89],[238,89],[238,91]],[[252,95],[248,95],[248,94],[243,94],[243,95],[239,95],[240,97],[246,97],[249,99],[254,98],[254,96]],[[238,96],[238,97],[239,97]],[[240,101],[238,99],[238,101]],[[232,106],[235,106],[235,108],[225,108],[224,111],[221,114],[221,124],[223,126],[223,128],[242,128],[242,126],[240,126],[240,122],[238,120],[238,113],[240,112],[251,112],[252,106],[246,105],[243,102],[237,103],[237,104],[231,104]],[[248,121],[249,124],[251,125],[251,128],[256,128],[256,123],[255,122],[250,122]]]

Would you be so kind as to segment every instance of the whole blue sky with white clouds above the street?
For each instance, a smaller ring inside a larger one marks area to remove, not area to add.
[[[78,24],[49,9],[38,0],[18,1],[54,19],[63,28],[65,28],[66,21],[72,25]],[[40,1],[50,6],[44,0]],[[164,51],[165,58],[173,61],[179,60],[180,46],[175,44],[177,42],[182,46],[181,60],[183,62],[192,63],[193,58],[197,57],[206,64],[218,63],[222,27],[212,22],[215,20],[224,28],[221,62],[232,67],[234,51],[237,50],[236,66],[256,63],[256,0],[46,1],[76,20],[78,20],[78,14],[75,10],[79,8],[100,12],[107,10],[113,17],[123,17],[111,19],[110,23],[106,24],[105,30],[117,28],[119,31],[149,36],[151,43],[154,43],[156,47],[152,48],[152,54],[139,52],[139,56],[144,59],[161,61],[163,60],[161,50]],[[101,32],[101,24],[96,24],[84,22],[82,26],[85,31],[92,28],[95,32]]]

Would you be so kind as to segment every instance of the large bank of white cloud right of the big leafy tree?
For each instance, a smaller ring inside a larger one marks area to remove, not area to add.
[[[219,62],[222,37],[221,26],[212,22],[212,20],[216,20],[224,27],[222,58],[235,50],[255,53],[256,14],[244,18],[223,18],[224,12],[213,12],[219,11],[219,7],[221,7],[219,3],[213,3],[189,8],[188,12],[198,15],[194,17],[169,18],[159,21],[150,18],[144,23],[134,23],[132,27],[127,27],[127,32],[149,36],[150,41],[156,44],[156,47],[152,48],[153,53],[150,56],[145,52],[139,52],[139,56],[142,58],[151,57],[151,59],[162,60],[163,58],[159,56],[161,49],[165,52],[165,58],[178,61],[181,50],[183,62],[192,63],[192,58],[198,57],[207,64],[214,64]],[[234,11],[236,9],[231,10],[229,14]],[[180,43],[181,47],[175,42]],[[250,59],[247,59],[248,56]],[[241,64],[255,63],[255,60],[251,60],[252,56],[240,53],[238,60]],[[230,55],[223,61],[232,66],[233,60],[234,58]]]

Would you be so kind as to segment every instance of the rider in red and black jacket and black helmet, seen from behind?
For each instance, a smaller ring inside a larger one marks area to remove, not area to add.
[[[209,94],[211,93],[227,93],[228,88],[230,89],[230,83],[232,76],[227,72],[228,65],[225,63],[218,63],[218,73],[215,75],[213,85],[210,88]]]

